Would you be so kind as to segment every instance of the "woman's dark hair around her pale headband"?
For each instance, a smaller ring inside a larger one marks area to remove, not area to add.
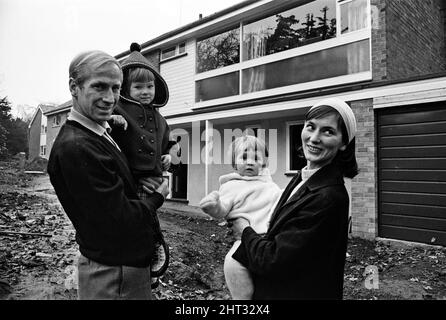
[[[335,158],[333,159],[333,162],[336,163],[336,165],[342,170],[342,173],[345,177],[352,179],[359,172],[355,155],[356,139],[353,138],[350,143],[348,142],[349,139],[347,128],[339,112],[337,112],[330,106],[321,105],[308,111],[305,115],[305,121],[309,121],[311,119],[320,119],[331,114],[334,114],[337,117],[338,127],[341,128],[342,142],[346,145],[344,151],[338,151]]]

